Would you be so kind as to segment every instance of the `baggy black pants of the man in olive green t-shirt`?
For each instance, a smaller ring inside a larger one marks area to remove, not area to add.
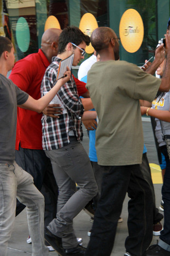
[[[110,256],[126,192],[131,199],[125,248],[132,256],[144,255],[153,237],[153,197],[136,164],[103,166],[102,193],[86,256]]]

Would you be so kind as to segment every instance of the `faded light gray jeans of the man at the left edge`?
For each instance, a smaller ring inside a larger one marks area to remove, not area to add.
[[[16,197],[27,207],[32,256],[48,256],[44,244],[44,197],[34,186],[33,177],[16,162],[0,163],[0,256],[7,254],[16,215]]]

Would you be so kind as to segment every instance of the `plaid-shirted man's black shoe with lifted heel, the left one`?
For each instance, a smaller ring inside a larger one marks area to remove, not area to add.
[[[44,238],[54,248],[59,256],[66,256],[62,246],[61,237],[53,235],[48,228],[45,228]]]

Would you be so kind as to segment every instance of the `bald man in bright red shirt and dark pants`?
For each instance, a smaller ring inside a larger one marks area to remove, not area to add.
[[[58,38],[61,32],[62,30],[57,28],[46,30],[42,36],[41,49],[38,50],[38,53],[18,60],[9,77],[20,89],[35,99],[41,98],[41,81],[52,57],[57,55]],[[88,97],[85,83],[77,81],[76,84],[79,94]],[[46,109],[47,115],[53,116],[54,112],[62,114],[58,104],[51,104]],[[56,217],[58,187],[52,173],[51,161],[42,149],[41,117],[42,114],[26,109],[17,109],[16,162],[34,177],[35,186],[45,197],[44,224],[47,226]],[[55,116],[55,118],[57,117]],[[25,206],[17,201],[16,215],[24,208]],[[27,242],[31,243],[30,237],[27,238]],[[49,249],[52,250],[51,247]]]

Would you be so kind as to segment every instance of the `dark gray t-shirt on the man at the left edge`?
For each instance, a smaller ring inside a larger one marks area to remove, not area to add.
[[[17,105],[23,104],[28,97],[0,74],[0,163],[12,164],[15,160]]]

